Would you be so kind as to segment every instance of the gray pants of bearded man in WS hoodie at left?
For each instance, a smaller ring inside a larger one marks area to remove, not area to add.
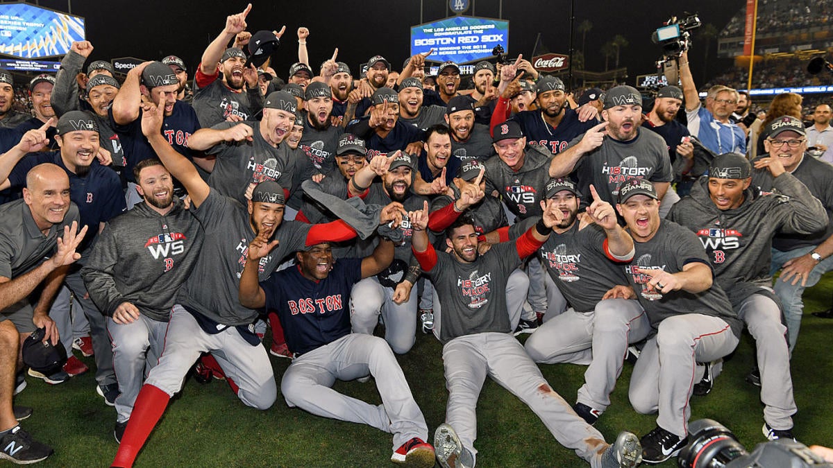
[[[116,399],[117,421],[124,422],[130,419],[142,382],[162,356],[167,321],[139,315],[132,323],[118,324],[107,317],[107,331],[112,338],[112,365],[122,391]]]

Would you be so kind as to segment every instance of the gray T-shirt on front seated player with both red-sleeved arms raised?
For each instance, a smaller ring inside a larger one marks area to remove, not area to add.
[[[442,304],[440,341],[511,331],[506,315],[506,281],[521,265],[515,243],[491,246],[471,263],[457,261],[453,253],[436,252],[436,265],[426,274]]]

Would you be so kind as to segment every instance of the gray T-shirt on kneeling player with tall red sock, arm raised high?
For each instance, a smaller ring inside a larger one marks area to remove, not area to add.
[[[180,303],[217,323],[229,326],[252,323],[257,311],[241,306],[237,299],[249,243],[255,238],[247,209],[211,189],[200,207],[192,207],[192,212],[202,223],[205,240],[191,276],[180,289]],[[266,280],[284,257],[304,247],[311,227],[291,221],[277,227],[274,238],[279,243],[260,260],[257,275],[260,281]]]

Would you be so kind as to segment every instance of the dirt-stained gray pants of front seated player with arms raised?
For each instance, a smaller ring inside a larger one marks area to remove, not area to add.
[[[488,332],[459,336],[442,347],[442,362],[448,389],[446,423],[454,428],[462,446],[472,456],[477,453],[474,448],[477,399],[486,376],[491,376],[526,403],[562,446],[576,451],[591,466],[601,466],[601,454],[608,446],[604,436],[552,390],[511,334]]]

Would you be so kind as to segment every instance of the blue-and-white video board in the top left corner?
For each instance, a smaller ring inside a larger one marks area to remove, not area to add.
[[[86,37],[84,18],[27,3],[0,3],[0,53],[55,57]]]

